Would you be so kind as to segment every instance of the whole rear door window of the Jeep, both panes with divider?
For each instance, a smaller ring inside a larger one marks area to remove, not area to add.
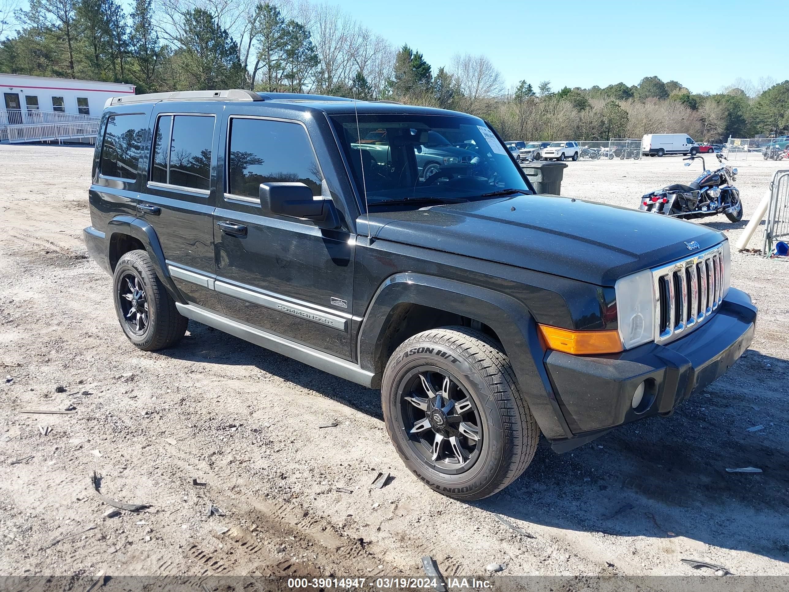
[[[156,122],[151,181],[208,191],[213,115],[162,115]]]

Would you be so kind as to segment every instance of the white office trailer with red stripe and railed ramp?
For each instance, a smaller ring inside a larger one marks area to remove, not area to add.
[[[107,99],[134,84],[0,73],[0,140],[93,141]]]

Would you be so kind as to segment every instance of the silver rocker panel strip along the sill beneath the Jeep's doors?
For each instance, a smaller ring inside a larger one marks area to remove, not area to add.
[[[361,369],[358,364],[348,360],[337,358],[323,351],[313,350],[312,347],[295,343],[290,341],[290,339],[284,339],[273,333],[261,331],[240,321],[222,317],[200,306],[176,302],[176,307],[178,312],[184,317],[196,320],[198,323],[207,324],[209,327],[235,335],[245,341],[249,341],[249,343],[254,343],[260,347],[265,347],[267,350],[286,355],[288,358],[294,358],[298,362],[304,362],[313,368],[334,374],[356,384],[361,384],[364,387],[369,388],[372,384],[373,373]]]

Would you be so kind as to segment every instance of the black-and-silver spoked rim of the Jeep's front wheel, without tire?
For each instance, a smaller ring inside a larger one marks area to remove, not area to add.
[[[477,402],[447,370],[421,365],[400,382],[398,414],[409,448],[444,474],[469,470],[480,456],[483,424]]]

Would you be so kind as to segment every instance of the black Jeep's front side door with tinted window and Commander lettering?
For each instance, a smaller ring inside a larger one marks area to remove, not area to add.
[[[215,212],[215,289],[228,317],[351,358],[353,249],[346,228],[272,214],[260,184],[301,182],[331,197],[307,128],[231,114]]]

